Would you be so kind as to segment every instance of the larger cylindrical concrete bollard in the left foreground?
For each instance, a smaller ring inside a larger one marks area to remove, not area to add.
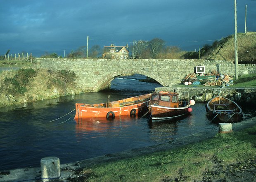
[[[41,179],[52,180],[60,177],[59,158],[45,157],[41,159]]]

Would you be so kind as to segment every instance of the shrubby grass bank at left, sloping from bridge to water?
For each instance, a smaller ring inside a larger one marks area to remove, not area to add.
[[[67,70],[18,69],[0,74],[0,107],[81,93]]]

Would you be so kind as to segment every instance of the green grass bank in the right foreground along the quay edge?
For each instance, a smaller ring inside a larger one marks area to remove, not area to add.
[[[255,181],[255,177],[256,126],[173,150],[80,168],[68,181]]]

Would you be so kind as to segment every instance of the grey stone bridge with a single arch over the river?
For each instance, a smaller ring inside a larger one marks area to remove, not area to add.
[[[110,86],[111,81],[126,74],[142,74],[163,86],[181,83],[196,66],[205,66],[205,72],[217,70],[235,75],[235,65],[227,61],[209,60],[111,60],[111,59],[44,59],[37,58],[38,67],[70,70],[78,76],[76,84],[85,92],[97,92]],[[256,73],[256,65],[238,65],[239,75]]]

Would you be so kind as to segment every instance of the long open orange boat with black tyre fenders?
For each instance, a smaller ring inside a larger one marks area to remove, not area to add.
[[[114,118],[121,115],[137,115],[147,111],[151,94],[144,94],[101,104],[76,103],[75,120],[90,117]]]

